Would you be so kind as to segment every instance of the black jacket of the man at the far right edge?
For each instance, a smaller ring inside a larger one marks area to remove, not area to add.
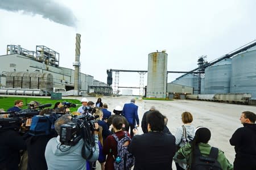
[[[232,138],[230,145],[235,146],[236,159],[256,159],[256,124],[243,124],[238,128]]]

